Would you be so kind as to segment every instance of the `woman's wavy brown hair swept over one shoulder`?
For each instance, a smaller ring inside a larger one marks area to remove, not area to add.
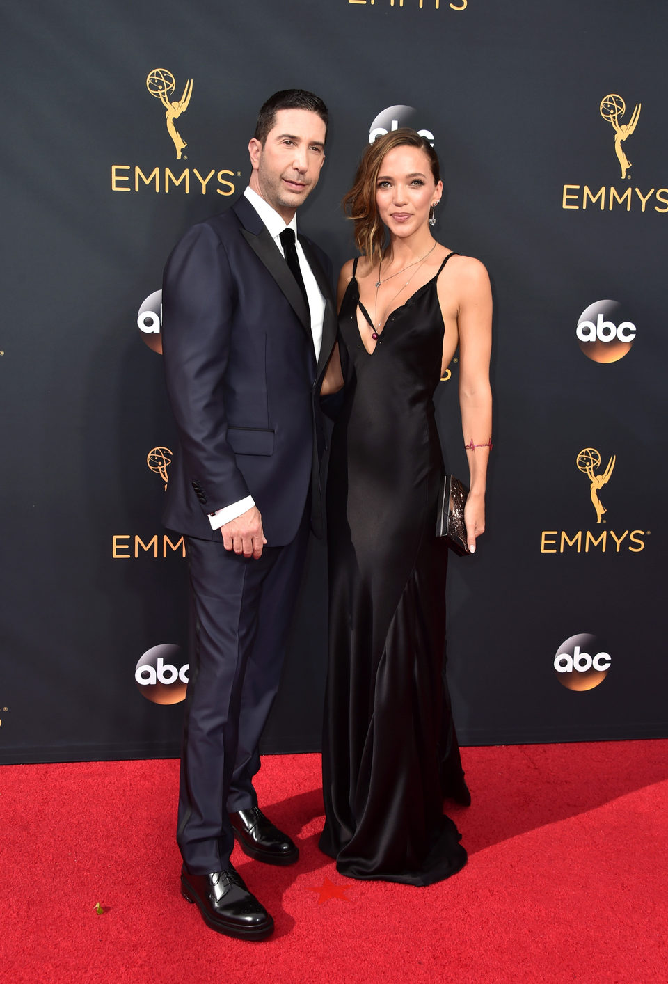
[[[381,260],[385,249],[386,229],[378,215],[376,184],[383,158],[395,147],[417,147],[429,158],[434,183],[441,180],[439,158],[429,141],[409,127],[400,127],[378,137],[366,149],[357,166],[352,188],[343,196],[343,212],[355,223],[355,243],[372,264]]]

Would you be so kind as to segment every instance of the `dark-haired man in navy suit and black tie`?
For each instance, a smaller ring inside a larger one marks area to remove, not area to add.
[[[319,394],[334,346],[331,265],[296,233],[325,160],[328,111],[276,92],[249,144],[252,174],[191,228],[164,272],[162,344],[179,451],[165,524],[186,536],[194,651],[177,839],[181,891],[214,930],[264,939],[273,919],[229,856],[290,864],[253,776],[275,696],[309,526],[322,523]]]

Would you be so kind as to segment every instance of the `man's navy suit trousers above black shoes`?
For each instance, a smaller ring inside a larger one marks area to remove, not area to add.
[[[193,645],[177,840],[192,875],[229,865],[228,812],[257,805],[258,746],[278,689],[308,542],[309,508],[286,546],[259,560],[188,537]]]

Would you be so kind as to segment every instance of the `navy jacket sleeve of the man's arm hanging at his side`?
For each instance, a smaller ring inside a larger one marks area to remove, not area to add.
[[[227,442],[224,377],[236,286],[208,223],[174,248],[162,281],[162,352],[185,469],[206,515],[249,495]]]

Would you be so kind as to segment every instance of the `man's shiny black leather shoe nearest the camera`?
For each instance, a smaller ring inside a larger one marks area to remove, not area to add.
[[[212,875],[181,872],[181,894],[199,906],[202,918],[216,933],[239,940],[265,940],[273,919],[231,866]]]

